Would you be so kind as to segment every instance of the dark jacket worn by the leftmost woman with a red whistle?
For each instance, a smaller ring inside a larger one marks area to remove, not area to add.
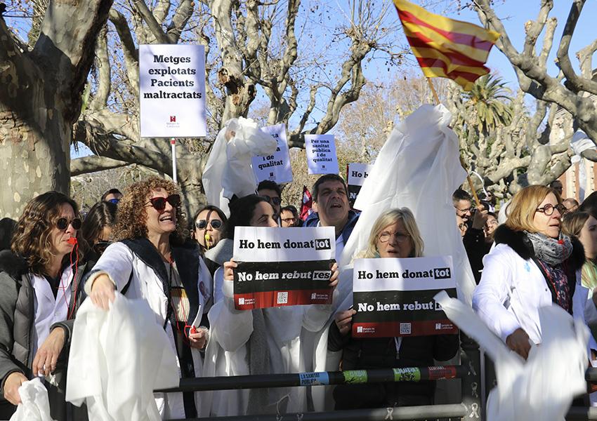
[[[75,306],[71,319],[55,323],[51,329],[58,326],[65,330],[65,347],[58,358],[55,376],[58,387],[48,387],[51,403],[51,415],[54,419],[65,420],[65,387],[66,365],[74,315],[84,300],[84,292],[80,286],[81,278],[87,270],[87,265],[81,263],[77,267],[74,281],[71,283],[71,298],[69,308]],[[9,374],[20,371],[31,378],[31,367],[34,359],[32,340],[34,338],[34,290],[32,275],[24,259],[13,254],[10,250],[0,253],[0,402],[3,407],[4,381]],[[75,302],[76,300],[76,302]],[[13,408],[15,408],[13,406]]]

